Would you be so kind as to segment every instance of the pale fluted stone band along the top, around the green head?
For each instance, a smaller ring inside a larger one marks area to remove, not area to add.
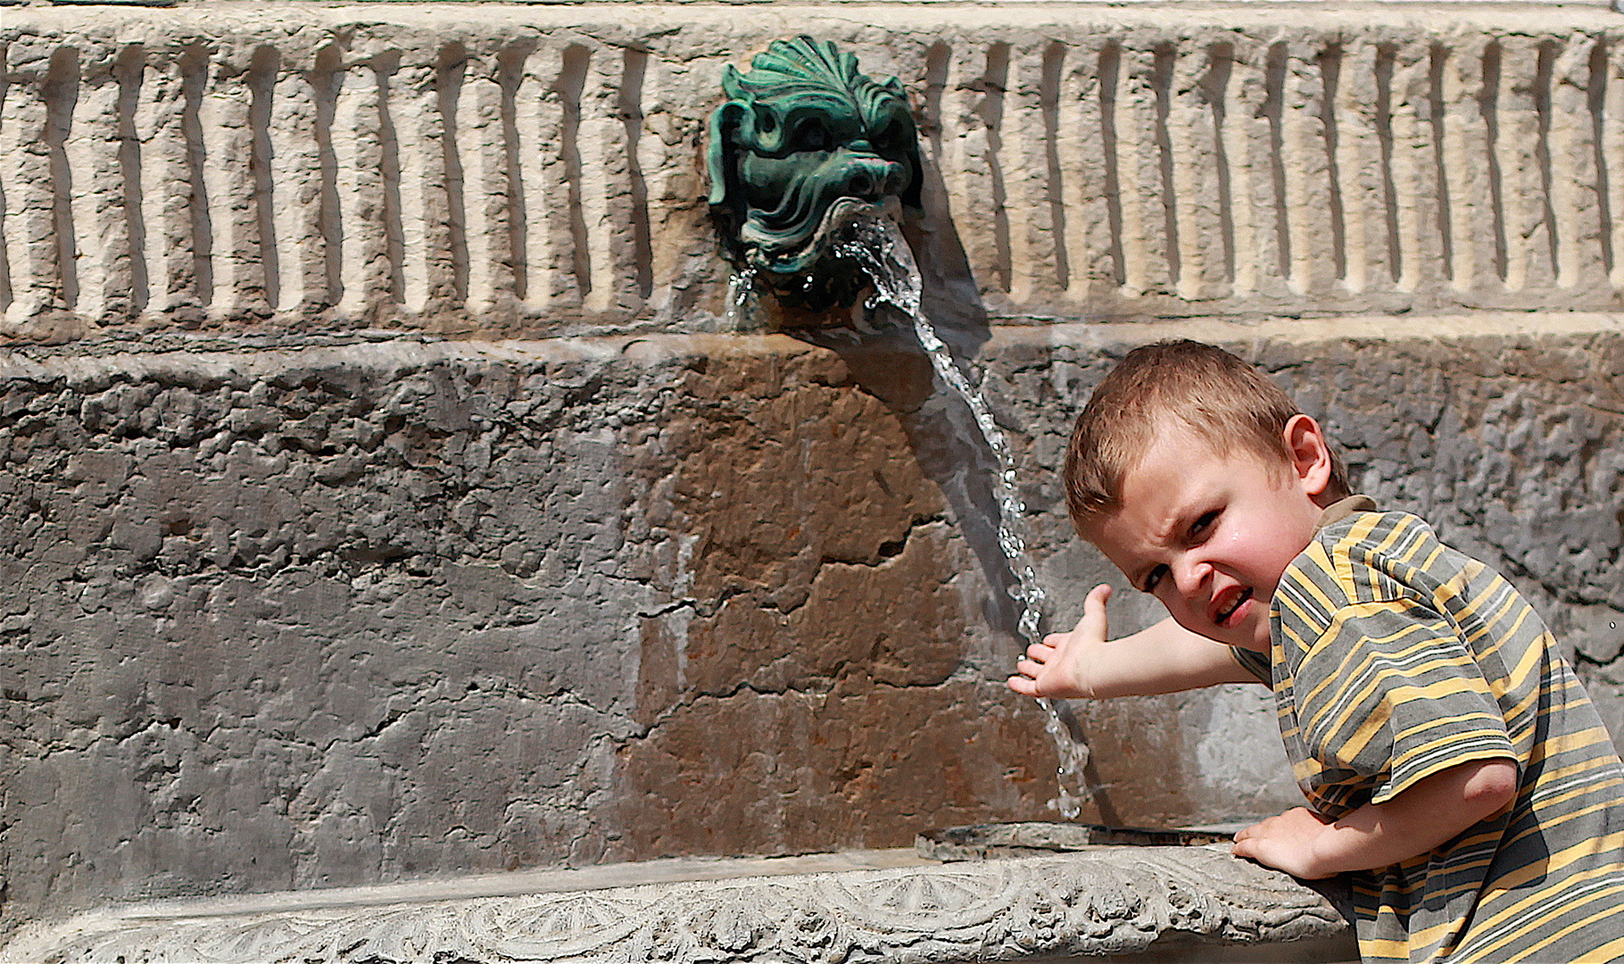
[[[895,73],[996,317],[1598,309],[1606,8],[8,8],[0,307],[91,325],[601,330],[721,314],[726,63]],[[44,332],[44,335],[42,335]]]

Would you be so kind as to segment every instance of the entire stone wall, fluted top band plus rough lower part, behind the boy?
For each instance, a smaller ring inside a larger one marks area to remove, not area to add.
[[[0,928],[1051,816],[966,413],[880,319],[718,333],[703,119],[799,31],[914,98],[927,310],[1051,626],[1111,577],[1069,423],[1194,335],[1624,732],[1624,60],[1601,8],[1518,16],[5,8]],[[1086,818],[1293,803],[1260,688],[1077,710]]]

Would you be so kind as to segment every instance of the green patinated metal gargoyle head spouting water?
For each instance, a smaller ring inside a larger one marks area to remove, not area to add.
[[[896,78],[874,81],[828,41],[773,41],[723,73],[711,114],[710,205],[728,257],[780,299],[849,304],[861,271],[822,244],[831,208],[896,197],[919,208],[919,141]],[[841,198],[853,198],[836,205]]]

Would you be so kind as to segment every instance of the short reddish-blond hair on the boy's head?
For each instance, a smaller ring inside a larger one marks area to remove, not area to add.
[[[1099,382],[1077,416],[1065,450],[1065,509],[1072,525],[1122,506],[1122,478],[1150,449],[1163,419],[1177,419],[1215,450],[1250,449],[1291,463],[1286,423],[1299,415],[1291,397],[1262,372],[1200,341],[1158,341],[1129,351]],[[1332,452],[1327,494],[1348,494],[1348,470]]]

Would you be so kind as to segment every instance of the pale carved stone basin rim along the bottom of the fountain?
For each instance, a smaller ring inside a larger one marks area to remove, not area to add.
[[[5,961],[919,962],[1132,954],[1156,943],[1346,936],[1330,901],[1228,847],[1101,847],[892,870],[253,912],[216,901],[81,915],[24,931]],[[248,899],[252,901],[252,899]],[[1351,948],[1350,948],[1351,949]]]

